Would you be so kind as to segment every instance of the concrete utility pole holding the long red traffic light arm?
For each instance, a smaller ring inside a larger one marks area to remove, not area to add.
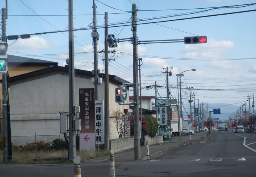
[[[132,51],[134,70],[134,160],[141,159],[139,142],[139,87],[138,87],[138,43],[137,43],[137,5],[132,4]]]

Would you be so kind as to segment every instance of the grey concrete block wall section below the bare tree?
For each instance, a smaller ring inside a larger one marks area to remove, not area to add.
[[[134,136],[109,140],[109,149],[115,152],[134,148]]]

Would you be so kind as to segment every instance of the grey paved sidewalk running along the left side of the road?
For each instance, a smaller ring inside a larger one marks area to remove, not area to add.
[[[208,140],[208,138],[205,138],[207,135],[209,135],[208,131],[204,131],[191,135],[191,140],[189,139],[189,135],[183,135],[181,140],[179,139],[179,136],[171,137],[169,141],[163,141],[162,144],[149,145],[149,156],[147,156],[147,146],[141,146],[141,160],[154,159],[161,154],[167,153],[168,151],[172,151],[186,144],[205,143],[206,140]],[[101,157],[91,160],[90,162],[104,162],[106,160],[109,160],[109,157]],[[116,162],[132,160],[134,160],[134,148],[115,154]]]

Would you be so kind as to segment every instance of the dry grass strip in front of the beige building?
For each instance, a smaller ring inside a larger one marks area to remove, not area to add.
[[[76,151],[76,155],[80,156],[82,162],[96,159],[98,157],[108,156],[109,152],[106,150],[94,151]],[[67,150],[59,151],[13,151],[13,160],[9,164],[49,164],[49,163],[70,163],[70,160],[45,160],[45,158],[67,157]],[[34,159],[37,159],[36,161]],[[0,163],[3,163],[3,151],[0,150]]]

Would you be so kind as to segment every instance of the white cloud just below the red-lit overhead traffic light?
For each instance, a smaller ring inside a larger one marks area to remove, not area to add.
[[[206,44],[187,44],[184,49],[184,56],[186,58],[213,58],[222,57],[223,53],[234,47],[234,42],[216,41],[208,39]]]

